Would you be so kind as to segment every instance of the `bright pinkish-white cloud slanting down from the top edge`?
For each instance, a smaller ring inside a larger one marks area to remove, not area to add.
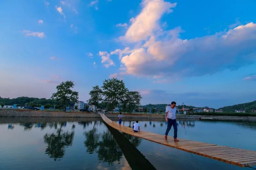
[[[123,37],[128,41],[146,40],[159,29],[158,20],[164,13],[170,13],[177,3],[164,2],[164,0],[144,0],[143,9],[136,18],[131,18],[132,25]]]

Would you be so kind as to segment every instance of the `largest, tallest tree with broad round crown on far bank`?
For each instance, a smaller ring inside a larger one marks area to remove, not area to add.
[[[124,99],[127,92],[123,80],[118,80],[117,78],[104,80],[102,89],[104,101],[110,104],[111,109]]]

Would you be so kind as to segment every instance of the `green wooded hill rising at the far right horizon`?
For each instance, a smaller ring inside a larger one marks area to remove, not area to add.
[[[235,112],[235,110],[246,110],[246,112],[251,112],[252,109],[256,109],[256,100],[249,103],[242,103],[233,106],[221,107],[223,112]]]

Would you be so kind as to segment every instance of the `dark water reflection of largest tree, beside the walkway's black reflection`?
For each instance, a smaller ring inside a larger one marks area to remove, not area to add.
[[[98,158],[100,161],[108,162],[108,165],[113,165],[115,161],[120,161],[123,153],[120,151],[116,140],[109,132],[104,132],[99,142]]]

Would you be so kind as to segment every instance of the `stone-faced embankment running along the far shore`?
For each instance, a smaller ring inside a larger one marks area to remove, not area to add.
[[[108,118],[116,118],[119,113],[105,114]],[[164,119],[164,114],[137,114],[122,113],[124,118],[139,119]],[[88,112],[54,112],[54,111],[34,111],[34,110],[13,110],[0,109],[0,117],[62,117],[62,118],[100,118],[98,113]],[[199,117],[212,118],[212,120],[242,120],[256,121],[256,116],[207,116],[207,115],[176,115],[177,119],[199,119]]]

